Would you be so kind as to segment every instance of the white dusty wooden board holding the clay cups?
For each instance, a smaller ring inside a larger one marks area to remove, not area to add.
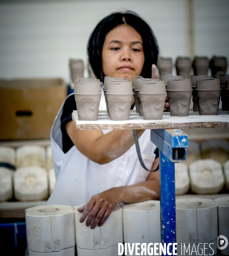
[[[73,111],[72,120],[79,130],[131,130],[131,129],[180,129],[180,128],[215,128],[229,127],[228,111],[221,111],[217,116],[200,116],[199,112],[189,111],[189,116],[171,116],[164,112],[162,120],[144,120],[135,110],[130,111],[129,120],[112,121],[107,111],[99,111],[96,121],[78,119],[77,111]]]

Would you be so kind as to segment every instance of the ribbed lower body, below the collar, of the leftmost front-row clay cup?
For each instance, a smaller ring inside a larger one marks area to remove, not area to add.
[[[79,120],[96,121],[99,113],[101,93],[74,93]]]

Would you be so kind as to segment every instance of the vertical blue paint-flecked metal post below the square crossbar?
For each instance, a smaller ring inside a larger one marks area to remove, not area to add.
[[[159,150],[161,242],[176,243],[175,164]],[[169,247],[172,253],[172,246]]]

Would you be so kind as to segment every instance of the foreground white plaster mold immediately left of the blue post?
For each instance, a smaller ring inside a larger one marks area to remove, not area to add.
[[[152,243],[153,248],[153,243],[161,242],[160,201],[123,205],[122,214],[125,243],[146,243],[147,246]],[[138,255],[135,248],[132,255]]]

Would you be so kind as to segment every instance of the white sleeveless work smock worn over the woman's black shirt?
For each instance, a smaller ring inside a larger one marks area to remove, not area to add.
[[[64,204],[74,207],[86,204],[93,195],[107,189],[147,180],[150,172],[145,171],[140,165],[135,145],[121,157],[104,165],[89,160],[78,151],[75,145],[64,153],[61,132],[63,105],[55,118],[51,131],[56,184],[47,204]],[[106,110],[103,93],[99,110]],[[103,132],[106,134],[110,130]],[[157,147],[150,140],[150,130],[146,130],[139,138],[139,145],[145,166],[151,169],[155,160],[154,151]]]

